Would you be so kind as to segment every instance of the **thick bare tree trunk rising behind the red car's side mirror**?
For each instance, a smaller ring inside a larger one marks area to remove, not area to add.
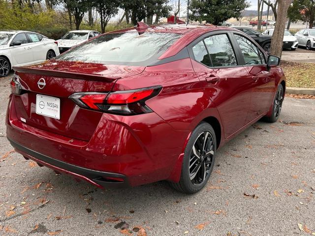
[[[284,29],[287,16],[287,9],[293,0],[279,0],[277,12],[277,24],[271,40],[271,55],[281,58],[284,40]]]

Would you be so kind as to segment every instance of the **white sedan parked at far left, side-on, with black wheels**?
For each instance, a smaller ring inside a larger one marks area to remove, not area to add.
[[[0,77],[12,66],[38,63],[59,55],[55,40],[30,31],[0,31]]]

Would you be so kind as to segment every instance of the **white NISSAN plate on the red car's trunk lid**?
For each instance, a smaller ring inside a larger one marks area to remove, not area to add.
[[[36,114],[60,119],[60,99],[36,94]]]

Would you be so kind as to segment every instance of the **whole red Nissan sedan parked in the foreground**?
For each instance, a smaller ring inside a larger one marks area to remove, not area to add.
[[[7,138],[26,159],[100,188],[168,180],[195,193],[218,148],[279,118],[279,62],[237,29],[138,23],[15,67]]]

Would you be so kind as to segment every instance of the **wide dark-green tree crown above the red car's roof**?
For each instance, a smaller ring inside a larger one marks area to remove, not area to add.
[[[238,18],[249,6],[247,0],[191,0],[189,19],[220,25],[229,18]]]

